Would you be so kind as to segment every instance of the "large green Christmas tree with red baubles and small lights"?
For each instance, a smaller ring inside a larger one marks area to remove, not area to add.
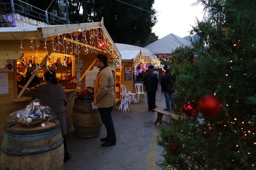
[[[207,2],[207,3],[206,3]],[[198,0],[193,47],[172,53],[175,113],[161,126],[162,169],[255,169],[256,1]]]

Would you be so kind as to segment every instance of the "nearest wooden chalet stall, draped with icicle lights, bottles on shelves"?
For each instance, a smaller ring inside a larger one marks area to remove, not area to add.
[[[40,77],[44,70],[51,69],[60,78],[70,71],[77,77],[77,86],[84,88],[86,73],[96,66],[96,55],[102,53],[121,67],[121,55],[103,24],[103,18],[101,22],[94,23],[0,28],[0,144],[4,125],[8,123],[5,116],[31,103],[32,98],[26,97],[25,89],[35,76]],[[35,71],[18,94],[16,61],[23,57],[28,63],[30,55],[34,66],[28,68]],[[47,60],[52,62],[52,67],[44,66]],[[73,131],[73,97],[77,89],[65,91],[68,124]]]

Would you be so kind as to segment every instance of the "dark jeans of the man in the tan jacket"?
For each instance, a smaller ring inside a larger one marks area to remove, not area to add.
[[[99,108],[101,121],[107,129],[108,142],[114,143],[116,142],[116,133],[114,128],[114,123],[111,117],[111,110],[112,110],[112,107]]]

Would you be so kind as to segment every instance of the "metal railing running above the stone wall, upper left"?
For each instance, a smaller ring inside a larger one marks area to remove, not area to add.
[[[18,13],[20,15],[26,16],[31,19],[39,20],[41,22],[46,22],[50,25],[62,25],[67,24],[66,18],[60,18],[52,13],[49,13],[47,10],[41,10],[35,6],[22,2],[20,0],[10,0],[10,3],[2,3],[6,5],[5,9],[1,10],[11,10],[12,12]],[[73,24],[70,22],[70,24]]]

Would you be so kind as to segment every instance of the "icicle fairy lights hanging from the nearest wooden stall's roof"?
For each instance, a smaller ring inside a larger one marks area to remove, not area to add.
[[[82,33],[82,39],[79,40],[78,35]],[[86,35],[89,38],[86,38]],[[57,36],[57,38],[55,38]],[[68,37],[68,38],[67,38]],[[95,28],[95,29],[88,29],[88,30],[78,30],[78,31],[71,31],[67,33],[61,33],[61,34],[54,34],[48,37],[38,37],[38,38],[22,38],[21,40],[21,47],[23,49],[22,53],[24,55],[25,50],[23,48],[23,40],[30,39],[31,41],[31,48],[32,48],[32,59],[36,63],[36,70],[39,71],[41,68],[39,66],[40,57],[38,56],[38,50],[39,50],[39,39],[44,39],[44,49],[47,53],[47,60],[50,58],[53,61],[53,66],[56,68],[56,61],[60,60],[60,62],[63,64],[63,59],[60,58],[60,53],[66,56],[71,57],[72,59],[76,59],[76,57],[79,59],[80,55],[86,55],[89,52],[91,53],[97,53],[95,49],[100,48],[102,52],[108,52],[111,54],[113,58],[113,64],[115,64],[117,67],[122,68],[121,64],[121,57],[117,53],[116,49],[114,48],[111,41],[109,41],[108,35],[105,33],[104,29],[101,27]],[[95,43],[95,40],[97,40],[97,44]],[[35,44],[33,41],[36,41],[36,49]],[[47,49],[47,43],[52,43],[53,48],[53,57],[51,57],[48,54]],[[54,43],[57,43],[57,46],[54,48]],[[71,52],[68,54],[69,46],[71,45]],[[36,56],[36,57],[35,57]],[[47,65],[46,65],[47,66]],[[47,70],[48,66],[47,66]]]

